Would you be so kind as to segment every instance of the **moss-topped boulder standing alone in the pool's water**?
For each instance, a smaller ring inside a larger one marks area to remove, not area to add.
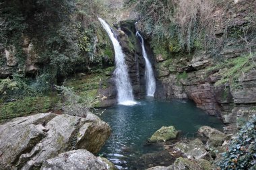
[[[148,138],[148,142],[165,142],[166,140],[177,138],[178,132],[174,126],[163,126]]]

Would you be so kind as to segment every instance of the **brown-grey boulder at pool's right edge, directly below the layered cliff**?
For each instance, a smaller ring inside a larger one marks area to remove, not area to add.
[[[210,144],[212,146],[221,146],[226,138],[226,134],[216,130],[215,128],[211,128],[210,126],[201,126],[198,130],[199,135],[206,137],[210,140]]]

